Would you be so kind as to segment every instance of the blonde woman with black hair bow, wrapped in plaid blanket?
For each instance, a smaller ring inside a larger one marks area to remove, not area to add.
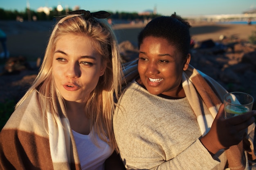
[[[110,14],[70,14],[55,25],[34,84],[0,133],[0,169],[103,170],[116,148],[113,94],[122,77]]]

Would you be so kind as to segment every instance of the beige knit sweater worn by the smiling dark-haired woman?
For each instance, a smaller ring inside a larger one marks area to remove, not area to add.
[[[119,99],[113,126],[127,169],[225,167],[223,151],[213,159],[201,144],[197,118],[186,97],[171,100],[155,96],[134,81]]]

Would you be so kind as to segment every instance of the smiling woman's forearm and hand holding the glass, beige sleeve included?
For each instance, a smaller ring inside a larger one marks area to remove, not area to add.
[[[221,105],[211,130],[200,139],[201,142],[197,140],[180,155],[152,168],[152,170],[175,169],[177,167],[181,169],[188,167],[193,167],[193,169],[214,168],[219,162],[211,156],[221,149],[239,144],[244,138],[247,127],[254,123],[253,116],[255,114],[256,111],[250,111],[231,119],[225,119],[224,105]]]

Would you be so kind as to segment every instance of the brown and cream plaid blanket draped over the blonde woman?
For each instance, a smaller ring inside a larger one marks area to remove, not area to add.
[[[56,123],[51,113],[42,113],[37,92],[13,112],[0,132],[0,169],[81,169],[61,101],[59,99],[62,111]]]

